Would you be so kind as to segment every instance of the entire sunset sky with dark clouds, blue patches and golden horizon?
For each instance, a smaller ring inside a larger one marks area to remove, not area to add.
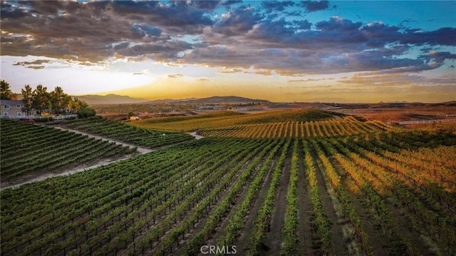
[[[456,1],[1,1],[12,91],[456,101]]]

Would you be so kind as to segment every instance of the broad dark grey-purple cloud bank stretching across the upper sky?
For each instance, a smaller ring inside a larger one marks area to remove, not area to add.
[[[326,9],[328,1],[2,2],[0,51],[87,65],[152,59],[282,76],[408,73],[454,64],[448,61],[455,52],[442,47],[456,46],[455,28],[423,31],[340,16],[311,23],[290,16]]]

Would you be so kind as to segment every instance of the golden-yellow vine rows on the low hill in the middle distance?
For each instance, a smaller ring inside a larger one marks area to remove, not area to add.
[[[234,138],[311,138],[373,133],[388,129],[390,127],[384,123],[378,121],[361,122],[349,116],[325,121],[289,121],[212,128],[198,130],[198,134]]]

